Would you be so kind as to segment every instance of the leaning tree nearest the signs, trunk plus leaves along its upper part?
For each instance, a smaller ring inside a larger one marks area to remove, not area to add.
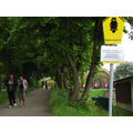
[[[94,20],[94,32],[93,32],[93,53],[92,53],[92,59],[91,59],[91,66],[90,66],[90,72],[86,76],[86,82],[85,82],[85,89],[82,93],[82,99],[88,99],[89,91],[91,88],[91,83],[96,70],[96,66],[100,63],[100,49],[102,44],[102,20],[103,18],[93,18]]]

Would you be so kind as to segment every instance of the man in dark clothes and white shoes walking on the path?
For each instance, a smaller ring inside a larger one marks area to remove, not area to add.
[[[17,106],[16,102],[16,86],[17,82],[13,79],[13,74],[9,75],[9,79],[6,81],[7,92],[9,96],[9,108]]]

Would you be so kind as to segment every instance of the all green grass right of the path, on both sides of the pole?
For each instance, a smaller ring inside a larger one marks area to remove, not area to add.
[[[51,89],[50,108],[54,116],[108,116],[108,111],[95,105],[91,96],[104,96],[104,89],[90,90],[88,102],[70,103],[65,90]],[[113,106],[114,116],[133,116],[133,112]]]

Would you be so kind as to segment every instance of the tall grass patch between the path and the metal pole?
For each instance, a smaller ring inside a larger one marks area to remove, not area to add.
[[[50,108],[54,116],[104,116],[108,112],[89,99],[88,103],[79,101],[70,103],[66,91],[52,88],[50,96]]]

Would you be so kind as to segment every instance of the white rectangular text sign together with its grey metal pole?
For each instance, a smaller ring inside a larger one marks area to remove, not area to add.
[[[124,51],[122,47],[102,45],[101,62],[110,63],[110,99],[109,99],[109,115],[112,116],[113,103],[113,63],[124,62]]]

